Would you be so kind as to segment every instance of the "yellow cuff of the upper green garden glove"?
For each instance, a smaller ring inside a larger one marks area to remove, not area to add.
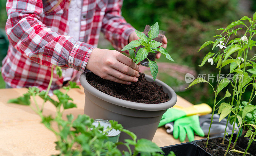
[[[196,104],[190,107],[174,106],[173,108],[183,110],[187,116],[201,116],[212,113],[212,108],[206,103]]]

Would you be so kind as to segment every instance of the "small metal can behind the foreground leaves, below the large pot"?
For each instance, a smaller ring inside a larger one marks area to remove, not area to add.
[[[94,122],[93,122],[92,124],[95,125],[95,127],[98,127],[99,124],[100,124],[100,126],[103,126],[103,127],[104,127],[104,128],[103,128],[103,131],[106,131],[107,127],[111,127],[111,124],[110,124],[110,122],[109,122],[108,120],[100,120],[100,119],[97,119],[97,120],[94,120]],[[120,132],[119,130],[115,130],[115,129],[113,129],[113,130],[111,130],[111,131],[108,131],[108,135],[107,135],[108,139],[105,140],[104,142],[111,141],[111,142],[113,142],[113,143],[117,143],[118,140],[119,140],[120,133],[121,133],[121,132]],[[116,148],[116,147],[115,147],[115,148]],[[95,148],[94,148],[93,146],[90,146],[90,149],[91,149],[91,151],[92,151],[93,153],[95,153]],[[105,149],[104,151],[101,151],[101,152],[100,152],[100,155],[101,155],[101,156],[106,155],[106,154],[107,154],[107,151],[108,151],[108,149]]]

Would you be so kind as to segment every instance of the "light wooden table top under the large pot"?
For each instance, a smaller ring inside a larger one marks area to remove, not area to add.
[[[40,123],[40,117],[29,106],[10,104],[7,101],[26,93],[28,89],[0,89],[0,155],[51,155],[57,154],[54,142],[55,135]],[[76,118],[84,113],[84,90],[71,89],[68,95],[74,99],[77,108],[65,110],[63,116],[72,113]],[[55,97],[53,97],[55,98]],[[40,97],[36,97],[39,106],[42,105]],[[32,101],[31,101],[32,102]],[[188,107],[192,104],[177,96],[177,105]],[[35,104],[32,102],[32,106]],[[55,115],[55,106],[45,103],[44,115]],[[195,136],[195,139],[201,137]],[[188,141],[186,138],[185,141]],[[165,128],[158,128],[153,138],[159,147],[179,144],[172,135],[166,133]]]

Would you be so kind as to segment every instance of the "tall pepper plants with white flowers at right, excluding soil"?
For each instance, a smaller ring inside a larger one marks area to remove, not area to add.
[[[248,24],[246,25],[245,21],[247,21],[249,25]],[[235,30],[232,29],[235,26],[240,26],[240,28],[237,28]],[[238,124],[240,125],[239,131],[241,131],[241,126],[244,125],[246,116],[248,119],[248,113],[252,113],[252,111],[254,111],[256,108],[254,105],[251,104],[252,99],[256,95],[256,92],[254,90],[256,89],[256,82],[255,82],[256,56],[254,55],[252,58],[248,58],[248,53],[252,53],[252,47],[256,46],[255,44],[256,41],[252,40],[252,37],[256,33],[255,26],[256,26],[256,13],[254,13],[252,18],[244,16],[240,20],[232,22],[226,28],[217,29],[221,31],[220,34],[214,36],[214,37],[217,37],[217,39],[214,41],[210,40],[205,42],[197,51],[199,52],[202,48],[211,44],[213,44],[212,50],[214,48],[219,49],[217,53],[213,53],[213,52],[207,53],[202,63],[199,65],[200,67],[202,67],[207,61],[208,63],[211,63],[211,65],[213,65],[214,62],[216,63],[216,68],[219,70],[217,86],[216,88],[214,88],[210,82],[206,81],[203,78],[197,78],[193,82],[191,82],[191,84],[189,85],[189,87],[191,87],[200,82],[209,83],[212,86],[212,89],[215,93],[212,118],[215,111],[218,110],[218,114],[220,114],[219,121],[221,121],[224,117],[228,117],[226,128],[228,125],[228,121],[231,120],[231,123],[233,124],[233,129],[232,129],[231,137],[229,138],[229,144],[228,144],[225,155],[229,151],[231,140],[232,140],[234,131],[236,130],[235,123],[238,122]],[[237,36],[238,31],[243,32],[244,34],[243,36],[241,36],[241,38]],[[230,36],[232,36],[232,38],[234,39],[229,40]],[[226,77],[223,77],[221,79],[220,78],[221,69],[224,66],[228,66],[230,68],[230,72]],[[224,89],[228,85],[231,85],[233,88],[231,92],[232,94],[229,93],[228,90],[226,90],[225,96],[222,97],[221,100],[217,102],[218,94],[222,89]],[[243,93],[245,92],[247,87],[250,85],[253,86],[250,98],[242,100]],[[225,102],[221,103],[223,99],[230,97],[231,95],[232,95],[231,101],[229,101],[228,103],[225,103]],[[244,100],[248,101],[248,103],[243,104],[242,101]],[[248,120],[246,122],[248,122]],[[209,133],[210,133],[211,125],[212,125],[212,120],[209,127]],[[255,129],[253,129],[252,131],[255,132]],[[206,147],[209,141],[209,133],[207,136]],[[224,143],[225,136],[226,136],[226,130],[223,136],[222,144]],[[238,135],[237,135],[237,138],[238,138]],[[237,141],[237,138],[236,138],[236,141]],[[236,144],[236,141],[234,142],[232,150]]]

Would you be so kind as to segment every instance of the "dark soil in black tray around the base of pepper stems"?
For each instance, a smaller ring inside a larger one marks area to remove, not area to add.
[[[212,138],[209,139],[207,148],[205,148],[205,144],[206,144],[206,140],[202,140],[202,141],[197,141],[196,144],[199,145],[200,147],[202,147],[206,152],[209,152],[210,154],[212,154],[213,156],[223,156],[225,154],[225,150],[228,147],[228,140],[224,141],[224,144],[222,145],[223,138]],[[231,143],[229,150],[231,150],[233,146],[233,143]],[[236,150],[239,151],[243,151],[244,149],[239,148],[238,146],[235,146]],[[237,153],[237,152],[230,152],[230,154],[227,154],[227,156],[242,156],[242,153]],[[249,154],[246,154],[246,156],[251,156]]]

